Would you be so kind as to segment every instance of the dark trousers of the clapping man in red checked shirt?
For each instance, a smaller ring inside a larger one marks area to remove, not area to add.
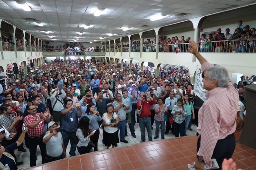
[[[40,137],[29,137],[29,157],[30,157],[30,167],[36,166],[36,148],[39,145],[42,156],[42,164],[46,163],[46,145],[43,143],[43,135]]]

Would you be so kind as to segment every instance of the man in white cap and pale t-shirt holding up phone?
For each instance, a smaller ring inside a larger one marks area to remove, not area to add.
[[[48,162],[57,161],[66,157],[66,150],[62,140],[61,132],[57,130],[58,122],[50,121],[48,131],[43,137],[43,143],[46,145],[46,159]]]

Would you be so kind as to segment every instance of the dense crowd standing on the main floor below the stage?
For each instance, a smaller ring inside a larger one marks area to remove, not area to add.
[[[186,136],[187,130],[193,131],[193,103],[197,99],[189,70],[175,66],[160,71],[156,75],[152,67],[140,70],[139,64],[129,69],[125,62],[122,68],[120,63],[98,60],[54,60],[32,68],[27,75],[20,73],[20,79],[15,79],[9,89],[0,91],[0,125],[12,138],[9,141],[5,131],[1,145],[18,141],[28,128],[25,145],[29,148],[30,166],[35,166],[38,145],[42,163],[66,157],[69,142],[70,156],[75,156],[76,149],[80,154],[97,151],[100,127],[106,148],[128,143],[127,124],[136,138],[136,122],[140,142],[146,141],[145,129],[149,141],[158,139],[160,127],[161,139],[168,134]],[[0,76],[8,78],[2,71]],[[241,76],[239,86],[233,85],[244,106],[243,86],[254,81],[255,75],[250,79]],[[18,150],[27,152],[22,143]],[[16,161],[14,152],[8,152]],[[17,165],[21,163],[16,161]]]

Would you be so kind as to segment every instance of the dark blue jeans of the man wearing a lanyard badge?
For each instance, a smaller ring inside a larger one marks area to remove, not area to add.
[[[71,157],[75,156],[75,150],[77,149],[77,144],[76,144],[75,140],[72,139],[72,132],[62,131],[61,134],[62,134],[62,139],[63,139],[65,151],[66,151],[66,149],[67,149],[68,142],[70,141],[70,151],[69,151],[69,155],[70,155]]]

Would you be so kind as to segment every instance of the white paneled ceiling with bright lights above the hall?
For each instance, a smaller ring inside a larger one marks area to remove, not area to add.
[[[97,42],[112,40],[209,15],[212,13],[255,4],[256,0],[19,0],[32,9],[23,11],[15,0],[0,0],[0,18],[41,40]],[[97,8],[105,13],[95,17]],[[155,14],[166,14],[162,20],[150,21]],[[42,22],[40,27],[36,22]],[[84,29],[84,25],[90,28]],[[123,27],[131,27],[123,31]],[[49,31],[46,34],[45,31]],[[83,35],[79,35],[78,33]],[[110,37],[109,33],[116,33]],[[100,40],[100,37],[106,39]]]

